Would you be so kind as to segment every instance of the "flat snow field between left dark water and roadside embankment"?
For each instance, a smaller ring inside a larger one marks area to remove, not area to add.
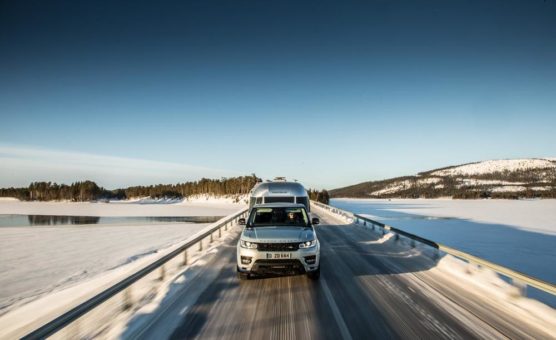
[[[171,223],[0,228],[0,315],[153,254],[206,226]]]

